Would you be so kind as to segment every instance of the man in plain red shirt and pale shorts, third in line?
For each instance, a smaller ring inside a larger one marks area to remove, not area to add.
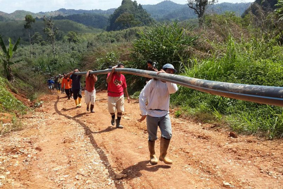
[[[90,112],[94,113],[94,102],[95,102],[95,82],[97,81],[97,76],[94,74],[89,74],[92,70],[87,71],[85,78],[85,91],[84,91],[84,101],[87,104],[87,111],[89,111],[89,103],[90,103]]]

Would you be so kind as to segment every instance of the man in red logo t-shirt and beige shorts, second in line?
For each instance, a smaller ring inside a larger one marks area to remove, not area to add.
[[[125,65],[119,63],[117,68],[124,68]],[[114,72],[115,68],[112,68],[111,73],[108,73],[106,82],[108,83],[108,111],[111,114],[111,124],[114,125],[116,121],[116,128],[122,129],[120,125],[122,112],[124,111],[124,92],[126,94],[128,103],[130,97],[127,91],[127,83],[125,76],[119,72]],[[115,111],[117,110],[117,119],[115,120]]]

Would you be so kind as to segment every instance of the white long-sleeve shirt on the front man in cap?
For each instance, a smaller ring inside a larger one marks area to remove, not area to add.
[[[170,94],[177,92],[176,84],[151,79],[140,92],[139,105],[142,115],[162,117],[169,113]],[[148,105],[146,106],[146,99]]]

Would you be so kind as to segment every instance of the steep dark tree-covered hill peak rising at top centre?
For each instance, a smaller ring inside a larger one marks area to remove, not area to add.
[[[141,4],[137,5],[137,1],[123,0],[121,6],[110,16],[109,22],[107,31],[149,25],[153,20]]]

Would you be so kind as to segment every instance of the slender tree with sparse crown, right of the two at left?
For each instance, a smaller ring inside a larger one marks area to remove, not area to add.
[[[52,17],[45,17],[43,16],[43,22],[45,25],[45,28],[43,29],[43,32],[47,34],[47,39],[49,39],[52,43],[52,51],[53,56],[55,58],[55,36],[58,32],[58,28],[54,28],[54,22],[52,21]]]

